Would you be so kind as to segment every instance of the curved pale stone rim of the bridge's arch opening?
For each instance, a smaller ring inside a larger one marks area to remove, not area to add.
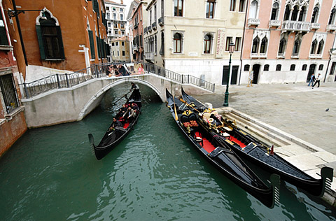
[[[123,84],[123,83],[139,83],[141,85],[146,85],[147,87],[150,87],[162,100],[162,102],[165,102],[165,98],[163,97],[160,90],[158,90],[154,85],[151,83],[148,83],[146,80],[141,80],[139,78],[122,78],[120,80],[113,81],[112,83],[109,83],[109,85],[106,85],[102,89],[100,89],[96,94],[94,94],[89,101],[85,104],[85,106],[80,110],[80,113],[78,115],[77,120],[83,120],[83,118],[89,114],[94,108],[96,108],[100,101],[102,101],[102,98],[104,97],[104,94],[108,90],[110,90],[112,87],[116,87],[117,85]]]

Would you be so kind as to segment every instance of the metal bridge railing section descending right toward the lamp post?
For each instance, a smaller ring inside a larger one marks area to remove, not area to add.
[[[215,91],[215,84],[210,83],[207,80],[204,80],[202,78],[197,78],[197,77],[189,75],[189,74],[187,75],[187,74],[175,73],[174,71],[169,71],[169,70],[164,69],[160,66],[156,66],[155,64],[150,64],[150,63],[144,63],[144,69],[145,69],[145,71],[155,73],[159,76],[169,78],[171,80],[175,80],[175,81],[177,81],[179,83],[182,83],[182,84],[197,85],[199,87],[210,90],[212,92]]]

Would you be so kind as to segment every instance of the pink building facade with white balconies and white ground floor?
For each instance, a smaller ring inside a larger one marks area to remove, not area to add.
[[[248,1],[240,84],[303,83],[312,73],[334,79],[335,8],[335,0]]]

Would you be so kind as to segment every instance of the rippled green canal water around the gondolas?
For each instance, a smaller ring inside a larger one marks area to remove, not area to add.
[[[136,129],[98,161],[87,134],[99,143],[126,92],[110,90],[80,122],[29,129],[0,158],[0,220],[336,220],[283,182],[279,205],[260,204],[195,152],[146,87]]]

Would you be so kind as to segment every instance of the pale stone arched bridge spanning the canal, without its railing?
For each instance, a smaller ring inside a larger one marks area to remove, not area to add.
[[[212,92],[197,85],[179,83],[153,73],[113,78],[92,78],[73,87],[56,88],[31,98],[22,99],[22,104],[25,106],[27,127],[43,127],[82,120],[99,105],[104,94],[111,87],[131,81],[151,87],[162,101],[166,100],[166,88],[173,94],[179,94],[182,85],[190,94]]]

